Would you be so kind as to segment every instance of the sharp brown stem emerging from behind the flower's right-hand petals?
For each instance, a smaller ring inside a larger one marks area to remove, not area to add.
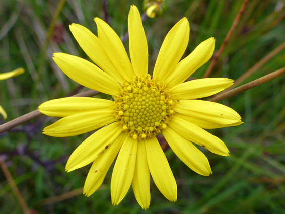
[[[240,94],[244,91],[247,91],[249,89],[252,89],[256,86],[259,86],[263,83],[266,83],[270,80],[273,80],[281,75],[285,74],[285,67],[279,69],[279,70],[276,70],[275,72],[272,72],[268,75],[265,75],[261,78],[258,78],[257,80],[254,80],[254,81],[251,81],[250,83],[247,83],[247,84],[244,84],[238,88],[235,88],[235,89],[232,89],[228,92],[224,92],[224,93],[221,93],[213,98],[211,98],[209,101],[212,101],[212,102],[219,102],[221,100],[224,100],[224,99],[227,99],[229,97],[232,97],[232,96],[235,96],[237,94]]]

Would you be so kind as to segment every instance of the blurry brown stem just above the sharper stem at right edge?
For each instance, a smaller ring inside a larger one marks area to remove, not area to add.
[[[235,80],[234,84],[230,88],[226,89],[225,91],[229,91],[231,88],[234,88],[235,86],[239,85],[246,78],[248,78],[250,75],[252,75],[254,72],[256,72],[256,70],[258,68],[260,68],[266,62],[268,62],[270,59],[272,59],[276,54],[278,54],[284,48],[285,48],[285,42],[282,43],[281,45],[279,45],[277,48],[275,48],[269,54],[267,54],[264,58],[262,58],[259,62],[257,62],[253,67],[248,69],[242,76],[240,76],[237,80]]]

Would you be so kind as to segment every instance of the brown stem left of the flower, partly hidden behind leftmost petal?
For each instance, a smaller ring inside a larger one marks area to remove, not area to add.
[[[79,93],[79,94],[76,94],[72,97],[93,97],[95,95],[98,95],[100,94],[100,92],[98,91],[95,91],[95,90],[89,90],[89,91],[86,91],[86,92],[82,92],[82,93]],[[32,119],[35,119],[39,116],[42,116],[43,114],[41,112],[39,112],[39,110],[34,110],[30,113],[27,113],[23,116],[20,116],[14,120],[11,120],[7,123],[4,123],[3,125],[0,125],[0,133],[4,132],[4,131],[8,131],[10,130],[11,128],[14,128],[18,125],[21,125],[25,122],[28,122]]]

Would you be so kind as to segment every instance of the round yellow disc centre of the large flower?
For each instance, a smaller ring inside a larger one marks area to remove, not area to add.
[[[134,139],[160,134],[174,113],[174,102],[164,83],[149,74],[123,82],[114,100],[114,117]]]

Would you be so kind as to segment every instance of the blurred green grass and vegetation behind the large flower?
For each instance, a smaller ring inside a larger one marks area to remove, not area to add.
[[[49,99],[87,90],[78,88],[77,83],[60,71],[52,53],[64,52],[88,59],[68,25],[79,23],[97,34],[93,18],[104,19],[103,3],[101,0],[61,2],[62,10],[55,0],[0,2],[0,73],[18,67],[26,71],[0,84],[1,105],[8,114],[8,119],[1,118],[0,124],[35,110]],[[127,32],[131,4],[142,14],[142,1],[107,1],[108,22],[120,36]],[[212,36],[216,38],[217,51],[242,4],[243,1],[234,0],[167,0],[161,17],[144,22],[150,72],[165,35],[178,20],[187,17],[190,22],[185,55]],[[249,1],[210,77],[236,80],[251,69],[252,75],[242,81],[244,84],[284,67],[284,47],[280,49],[285,41],[284,4],[281,0]],[[124,45],[128,48],[127,41]],[[280,50],[271,53],[276,48]],[[193,76],[203,77],[209,64]],[[282,213],[285,209],[284,81],[282,75],[221,102],[239,112],[245,123],[211,130],[231,153],[222,157],[204,151],[212,167],[209,177],[194,173],[167,150],[178,185],[178,201],[168,201],[152,182],[151,206],[147,211],[137,204],[131,189],[119,206],[111,205],[112,170],[98,191],[90,197],[82,195],[89,167],[66,173],[64,166],[68,156],[90,133],[65,138],[44,136],[43,127],[57,118],[40,117],[0,134],[0,154],[31,213]],[[23,213],[2,172],[0,197],[0,213]]]

